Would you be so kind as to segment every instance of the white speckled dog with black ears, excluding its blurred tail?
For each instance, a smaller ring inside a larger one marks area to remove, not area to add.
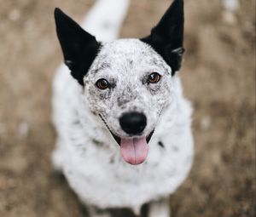
[[[170,216],[169,195],[193,161],[192,108],[178,77],[183,22],[183,0],[174,0],[148,37],[103,43],[55,9],[70,73],[54,81],[53,164],[90,216],[138,215],[145,203],[148,216]]]

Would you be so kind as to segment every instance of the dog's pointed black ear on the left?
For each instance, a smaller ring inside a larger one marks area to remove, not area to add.
[[[64,62],[71,70],[71,74],[84,85],[83,77],[100,49],[88,32],[84,31],[74,20],[64,14],[61,9],[55,9],[55,24]]]

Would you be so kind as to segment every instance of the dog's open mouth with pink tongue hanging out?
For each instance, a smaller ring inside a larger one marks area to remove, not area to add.
[[[102,118],[102,116],[100,115]],[[102,118],[102,122],[108,128],[108,124]],[[108,128],[109,132],[112,134],[113,139],[120,146],[121,156],[125,160],[126,163],[130,163],[132,165],[138,165],[143,163],[148,157],[148,142],[154,134],[154,130],[148,134],[147,136],[129,136],[129,137],[119,137]]]

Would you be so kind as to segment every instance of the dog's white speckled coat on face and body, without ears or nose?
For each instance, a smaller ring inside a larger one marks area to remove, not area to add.
[[[148,84],[146,77],[154,71],[162,76],[160,82]],[[99,78],[107,79],[111,88],[97,89]],[[53,92],[58,134],[53,163],[80,200],[97,208],[131,208],[136,214],[143,203],[153,202],[150,217],[169,216],[167,200],[161,205],[157,201],[168,198],[189,173],[193,138],[191,107],[179,77],[172,77],[160,54],[138,39],[103,43],[84,76],[84,87],[61,66]],[[147,160],[137,166],[124,162],[108,130],[127,136],[119,126],[126,111],[145,114],[143,135],[154,129]]]

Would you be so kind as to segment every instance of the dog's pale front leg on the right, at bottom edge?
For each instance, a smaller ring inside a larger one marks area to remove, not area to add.
[[[149,203],[148,217],[171,217],[169,198]]]

